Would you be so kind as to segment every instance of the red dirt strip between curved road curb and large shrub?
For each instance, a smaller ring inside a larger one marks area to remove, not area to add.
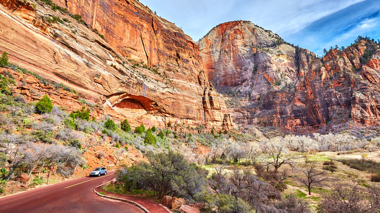
[[[102,186],[96,187],[95,190],[97,192],[102,192],[108,196],[114,196],[118,198],[124,198],[127,200],[132,200],[143,207],[145,207],[147,210],[149,210],[151,213],[169,213],[168,210],[166,210],[164,207],[159,205],[153,198],[143,198],[139,195],[120,195],[115,194],[112,192],[108,192],[102,189]]]

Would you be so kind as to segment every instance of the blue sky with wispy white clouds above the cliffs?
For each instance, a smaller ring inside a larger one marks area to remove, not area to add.
[[[322,55],[358,35],[380,39],[380,0],[140,0],[193,40],[220,23],[249,20]]]

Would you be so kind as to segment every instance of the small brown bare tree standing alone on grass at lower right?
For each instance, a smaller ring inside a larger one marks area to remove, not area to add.
[[[306,164],[301,167],[302,177],[297,177],[309,190],[309,195],[311,195],[311,186],[315,183],[320,183],[326,179],[326,172],[324,170],[318,170],[317,162],[313,161],[310,164]]]

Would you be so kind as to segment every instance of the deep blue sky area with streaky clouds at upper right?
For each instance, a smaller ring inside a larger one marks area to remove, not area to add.
[[[320,18],[284,38],[322,55],[324,48],[348,46],[358,35],[380,38],[379,26],[380,4],[378,0],[366,0]]]

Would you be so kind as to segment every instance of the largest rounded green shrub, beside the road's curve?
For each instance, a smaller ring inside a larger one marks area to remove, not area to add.
[[[164,195],[192,197],[206,183],[204,171],[189,163],[180,153],[147,152],[146,156],[148,162],[124,166],[118,172],[118,179],[127,189],[137,185],[151,189],[159,199]]]

